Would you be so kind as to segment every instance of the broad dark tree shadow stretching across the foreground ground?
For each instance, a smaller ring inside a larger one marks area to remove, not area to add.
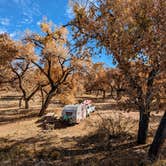
[[[94,135],[61,138],[62,142],[75,141],[76,144],[72,147],[52,144],[51,139],[52,136],[45,135],[23,140],[1,138],[0,145],[3,145],[0,148],[1,164],[141,166],[145,165],[149,148],[149,144],[137,145],[134,138],[127,137],[112,139],[110,144],[100,144],[102,139],[99,142]]]

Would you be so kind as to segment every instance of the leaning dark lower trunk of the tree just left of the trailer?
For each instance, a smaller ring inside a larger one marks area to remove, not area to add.
[[[44,113],[45,113],[45,111],[46,111],[46,109],[47,109],[47,107],[48,107],[48,105],[49,105],[49,103],[50,103],[50,100],[51,100],[52,97],[53,97],[53,94],[54,94],[55,90],[56,90],[56,89],[51,89],[51,90],[49,91],[49,93],[47,94],[47,97],[46,97],[46,99],[45,99],[45,102],[43,103],[42,108],[41,108],[41,110],[40,110],[40,112],[39,112],[39,116],[43,116],[43,115],[44,115]]]

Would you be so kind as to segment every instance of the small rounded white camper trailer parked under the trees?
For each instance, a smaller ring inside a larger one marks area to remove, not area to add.
[[[62,120],[70,124],[79,123],[87,116],[86,106],[84,104],[66,105],[62,111]]]

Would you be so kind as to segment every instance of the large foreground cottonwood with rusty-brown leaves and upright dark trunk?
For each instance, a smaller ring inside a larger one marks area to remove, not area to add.
[[[72,26],[76,43],[82,46],[93,42],[105,48],[118,64],[130,85],[131,101],[140,113],[139,144],[146,143],[155,80],[166,67],[165,3],[96,0],[81,6],[75,1],[74,19],[66,25]]]

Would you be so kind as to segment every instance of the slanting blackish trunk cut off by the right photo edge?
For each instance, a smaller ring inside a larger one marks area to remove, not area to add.
[[[152,161],[157,159],[158,153],[161,149],[161,146],[164,144],[165,139],[166,139],[166,111],[160,121],[159,127],[156,131],[155,137],[149,149],[148,156]]]

